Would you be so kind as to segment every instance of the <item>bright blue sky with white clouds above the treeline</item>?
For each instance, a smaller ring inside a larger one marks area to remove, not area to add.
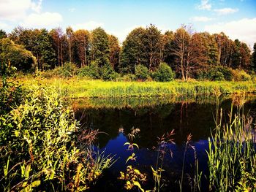
[[[0,0],[0,28],[92,30],[101,26],[123,42],[132,29],[154,24],[162,33],[192,24],[223,31],[250,47],[256,42],[256,0]]]

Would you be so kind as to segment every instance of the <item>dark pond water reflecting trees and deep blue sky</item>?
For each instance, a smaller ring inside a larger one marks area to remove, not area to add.
[[[159,100],[159,99],[158,99]],[[249,99],[244,105],[244,113],[252,116],[255,122],[256,102]],[[85,101],[86,102],[86,101]],[[94,101],[97,102],[97,101]],[[193,177],[195,172],[195,151],[199,161],[199,170],[202,172],[201,191],[208,191],[208,166],[207,154],[208,137],[211,136],[211,130],[214,129],[214,116],[216,114],[216,104],[214,100],[206,102],[196,101],[178,101],[178,102],[161,102],[148,101],[148,104],[131,105],[123,101],[122,105],[117,104],[110,107],[113,101],[99,100],[100,107],[83,107],[83,104],[77,107],[75,116],[85,127],[99,129],[105,132],[98,136],[99,150],[105,150],[106,154],[116,155],[116,163],[99,179],[91,191],[125,191],[124,182],[117,180],[119,172],[126,169],[126,166],[132,164],[148,175],[148,181],[143,188],[152,188],[151,166],[155,167],[157,162],[157,137],[162,134],[175,130],[173,137],[175,145],[167,145],[167,153],[164,158],[162,178],[165,180],[161,191],[179,191],[178,183],[181,180],[181,170],[183,165],[185,143],[187,136],[192,134],[192,147],[187,148],[184,164],[184,191],[190,191],[189,177]],[[136,101],[137,102],[137,101]],[[82,102],[83,103],[83,102]],[[107,103],[104,105],[104,103]],[[140,103],[140,101],[138,101]],[[154,103],[154,104],[152,104]],[[225,121],[230,112],[232,99],[224,99],[220,102],[220,107],[224,112]],[[236,107],[234,107],[236,109]],[[125,161],[131,155],[124,143],[129,139],[131,128],[140,128],[138,137],[134,142],[139,145],[140,149],[135,150],[136,161]],[[123,133],[118,132],[122,128]],[[170,150],[173,157],[170,155]]]

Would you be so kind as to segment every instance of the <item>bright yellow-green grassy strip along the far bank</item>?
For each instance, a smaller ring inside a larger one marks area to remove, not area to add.
[[[152,97],[152,96],[211,96],[216,93],[256,93],[256,82],[105,82],[77,77],[69,79],[29,78],[16,79],[24,88],[30,85],[53,86],[62,96],[72,98]]]

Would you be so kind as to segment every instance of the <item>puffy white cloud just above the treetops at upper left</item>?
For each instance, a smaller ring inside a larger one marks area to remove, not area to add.
[[[28,28],[50,28],[56,27],[62,21],[62,16],[58,12],[31,13],[20,26]]]

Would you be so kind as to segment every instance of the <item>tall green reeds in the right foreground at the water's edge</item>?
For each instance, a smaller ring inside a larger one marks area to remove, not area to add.
[[[237,112],[233,112],[236,104]],[[217,104],[216,128],[208,139],[210,191],[255,191],[256,149],[251,118],[244,115],[244,99],[235,100],[223,123]]]

